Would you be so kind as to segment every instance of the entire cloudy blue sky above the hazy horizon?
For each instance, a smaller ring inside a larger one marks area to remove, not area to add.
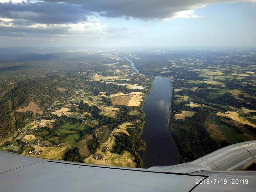
[[[0,0],[0,47],[256,47],[256,0]]]

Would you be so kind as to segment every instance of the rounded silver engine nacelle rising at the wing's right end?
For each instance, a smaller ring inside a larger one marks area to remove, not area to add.
[[[256,163],[256,141],[229,145],[195,161],[161,167],[162,172],[191,173],[196,171],[243,171]],[[159,169],[160,167],[158,167]],[[157,166],[149,168],[157,170]]]

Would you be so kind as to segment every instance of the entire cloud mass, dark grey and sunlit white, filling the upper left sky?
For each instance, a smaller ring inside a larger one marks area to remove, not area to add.
[[[89,37],[86,39],[88,41],[93,38],[103,41],[107,38],[134,37],[138,36],[135,32],[137,29],[127,28],[128,21],[120,27],[115,26],[119,24],[113,22],[110,22],[111,26],[104,23],[102,27],[100,17],[124,20],[199,18],[202,16],[196,15],[194,11],[197,8],[235,1],[238,0],[12,0],[0,3],[0,37],[2,42],[4,37],[27,42],[65,41],[75,37]],[[7,40],[5,42],[8,44]]]

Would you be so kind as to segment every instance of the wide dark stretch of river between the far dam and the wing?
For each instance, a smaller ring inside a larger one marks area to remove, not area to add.
[[[145,124],[140,136],[146,148],[144,152],[139,152],[143,168],[178,164],[178,153],[168,126],[171,94],[169,79],[158,77],[153,82],[151,92],[146,95],[142,109],[145,112]]]

